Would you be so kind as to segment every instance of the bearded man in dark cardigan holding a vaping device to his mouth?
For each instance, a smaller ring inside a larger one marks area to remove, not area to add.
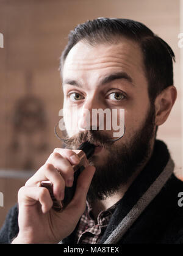
[[[2,243],[183,242],[182,182],[167,146],[156,140],[176,100],[173,60],[170,46],[137,21],[98,18],[71,31],[60,62],[70,149],[56,148],[20,189]],[[124,109],[123,137],[115,141],[113,129],[99,130],[99,120],[96,130],[87,129],[93,109]],[[40,181],[51,181],[54,196],[63,200],[79,163],[74,148],[84,141],[96,146],[95,153],[73,200],[56,212]]]

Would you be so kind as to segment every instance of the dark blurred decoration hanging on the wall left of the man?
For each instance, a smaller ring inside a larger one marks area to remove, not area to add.
[[[10,166],[22,166],[23,170],[32,170],[35,167],[34,153],[40,154],[48,147],[44,105],[34,96],[20,98],[16,103],[12,121],[12,141],[7,150],[7,153],[10,152]],[[25,153],[23,159],[17,157],[21,150]]]

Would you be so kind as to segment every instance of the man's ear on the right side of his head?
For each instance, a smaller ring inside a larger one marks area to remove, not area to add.
[[[168,86],[157,95],[155,100],[156,125],[162,125],[167,120],[176,97],[177,90],[174,86]]]

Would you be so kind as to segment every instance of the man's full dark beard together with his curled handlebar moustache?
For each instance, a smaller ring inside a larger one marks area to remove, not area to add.
[[[96,164],[98,155],[91,156],[90,165],[96,167],[95,175],[88,189],[87,200],[90,203],[112,196],[127,183],[132,174],[144,166],[152,153],[152,138],[155,128],[155,108],[151,106],[145,123],[131,137],[127,144],[109,142],[109,136],[101,131],[81,131],[64,140],[65,147],[76,149],[82,142],[102,145],[108,153],[102,165]],[[123,139],[123,138],[122,138]]]

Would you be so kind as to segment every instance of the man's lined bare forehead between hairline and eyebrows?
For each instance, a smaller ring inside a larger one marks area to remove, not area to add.
[[[63,65],[63,80],[89,79],[124,71],[132,79],[144,78],[143,56],[140,46],[127,38],[116,43],[99,43],[91,46],[80,41],[71,48]]]

